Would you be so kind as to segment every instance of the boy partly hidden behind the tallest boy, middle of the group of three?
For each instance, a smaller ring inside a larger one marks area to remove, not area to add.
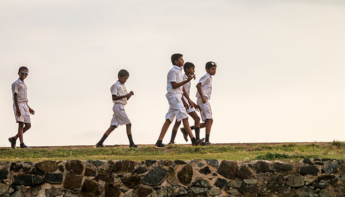
[[[188,79],[187,75],[192,75],[193,78],[195,79],[195,75],[194,75],[195,66],[194,66],[193,63],[186,62],[184,64],[184,66],[183,66],[183,70],[185,72],[185,74],[183,74],[183,81]],[[191,87],[191,85],[192,85],[191,81],[189,81],[188,83],[183,85],[183,88],[185,89],[186,94],[188,95],[188,97],[190,95],[190,87]],[[190,115],[194,119],[194,126],[191,127],[191,130],[195,129],[195,138],[196,139],[200,139],[200,127],[201,127],[200,126],[200,117],[198,116],[198,114],[196,113],[194,108],[189,107],[189,105],[187,104],[188,100],[187,100],[187,98],[184,95],[182,95],[182,102],[183,102],[183,105],[186,106],[186,113],[188,115]],[[197,111],[199,111],[200,107],[197,104],[195,104],[194,102],[193,102],[193,105],[197,109]],[[171,138],[169,144],[174,144],[174,140],[175,140],[175,136],[176,136],[176,133],[177,133],[177,129],[180,126],[180,124],[181,124],[181,122],[177,122],[177,120],[175,121],[175,124],[173,126],[172,138]],[[205,127],[205,124],[204,124],[204,127]],[[188,137],[188,133],[186,132],[186,130],[184,128],[181,128],[181,131],[183,133],[184,139],[186,141],[188,141],[188,138],[187,138]]]

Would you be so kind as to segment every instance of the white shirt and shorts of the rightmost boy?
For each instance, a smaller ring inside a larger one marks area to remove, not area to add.
[[[199,91],[197,91],[197,104],[200,106],[200,114],[203,121],[206,121],[207,119],[212,119],[212,110],[211,105],[209,104],[208,100],[211,99],[211,93],[212,93],[212,76],[208,74],[208,72],[202,76],[198,82],[198,84],[201,83],[201,90],[204,95],[204,98],[206,99],[206,103],[203,102],[203,99],[201,98]]]

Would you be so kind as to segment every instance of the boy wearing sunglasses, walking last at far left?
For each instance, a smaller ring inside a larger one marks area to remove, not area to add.
[[[30,114],[34,115],[35,111],[28,105],[28,87],[24,82],[29,75],[29,69],[26,66],[21,66],[18,70],[19,79],[12,83],[12,100],[13,111],[18,123],[18,134],[8,138],[12,148],[16,147],[16,140],[19,137],[20,147],[29,148],[24,144],[23,133],[31,128]]]

